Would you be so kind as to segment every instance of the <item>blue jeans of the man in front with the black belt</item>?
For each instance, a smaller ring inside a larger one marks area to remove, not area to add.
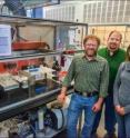
[[[83,97],[73,93],[68,109],[67,134],[68,138],[77,138],[77,124],[80,115],[84,110],[84,125],[81,132],[81,138],[90,138],[96,114],[92,111],[92,106],[98,97]]]

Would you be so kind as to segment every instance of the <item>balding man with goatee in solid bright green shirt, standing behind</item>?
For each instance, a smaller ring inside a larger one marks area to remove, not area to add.
[[[104,138],[114,138],[114,131],[116,131],[116,115],[114,115],[114,106],[113,106],[113,82],[116,79],[116,75],[118,71],[118,68],[121,62],[124,61],[126,58],[126,51],[120,49],[122,36],[119,31],[111,31],[108,41],[107,47],[99,49],[98,53],[106,58],[109,63],[109,87],[108,87],[108,97],[104,99],[104,128],[107,130],[107,134]],[[101,111],[97,114],[92,134],[97,132],[97,128],[99,126],[99,121],[101,118]]]

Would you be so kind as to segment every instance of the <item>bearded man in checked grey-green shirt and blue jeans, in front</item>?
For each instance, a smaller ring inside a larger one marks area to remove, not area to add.
[[[84,53],[73,58],[58,96],[58,100],[64,102],[67,88],[74,80],[74,92],[68,109],[68,138],[77,138],[78,118],[83,110],[81,137],[90,138],[96,112],[101,109],[103,98],[108,95],[109,67],[106,59],[97,56],[99,45],[100,39],[96,36],[84,38]]]

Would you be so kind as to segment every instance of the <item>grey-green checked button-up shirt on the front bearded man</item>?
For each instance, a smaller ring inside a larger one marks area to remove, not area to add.
[[[74,89],[81,92],[98,91],[106,97],[109,82],[109,66],[106,59],[97,56],[88,60],[84,55],[73,58],[62,86],[68,87],[74,79]]]

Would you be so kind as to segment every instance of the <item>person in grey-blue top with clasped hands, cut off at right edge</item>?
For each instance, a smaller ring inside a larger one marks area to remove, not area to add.
[[[113,86],[113,101],[118,121],[118,138],[130,138],[130,46]]]

